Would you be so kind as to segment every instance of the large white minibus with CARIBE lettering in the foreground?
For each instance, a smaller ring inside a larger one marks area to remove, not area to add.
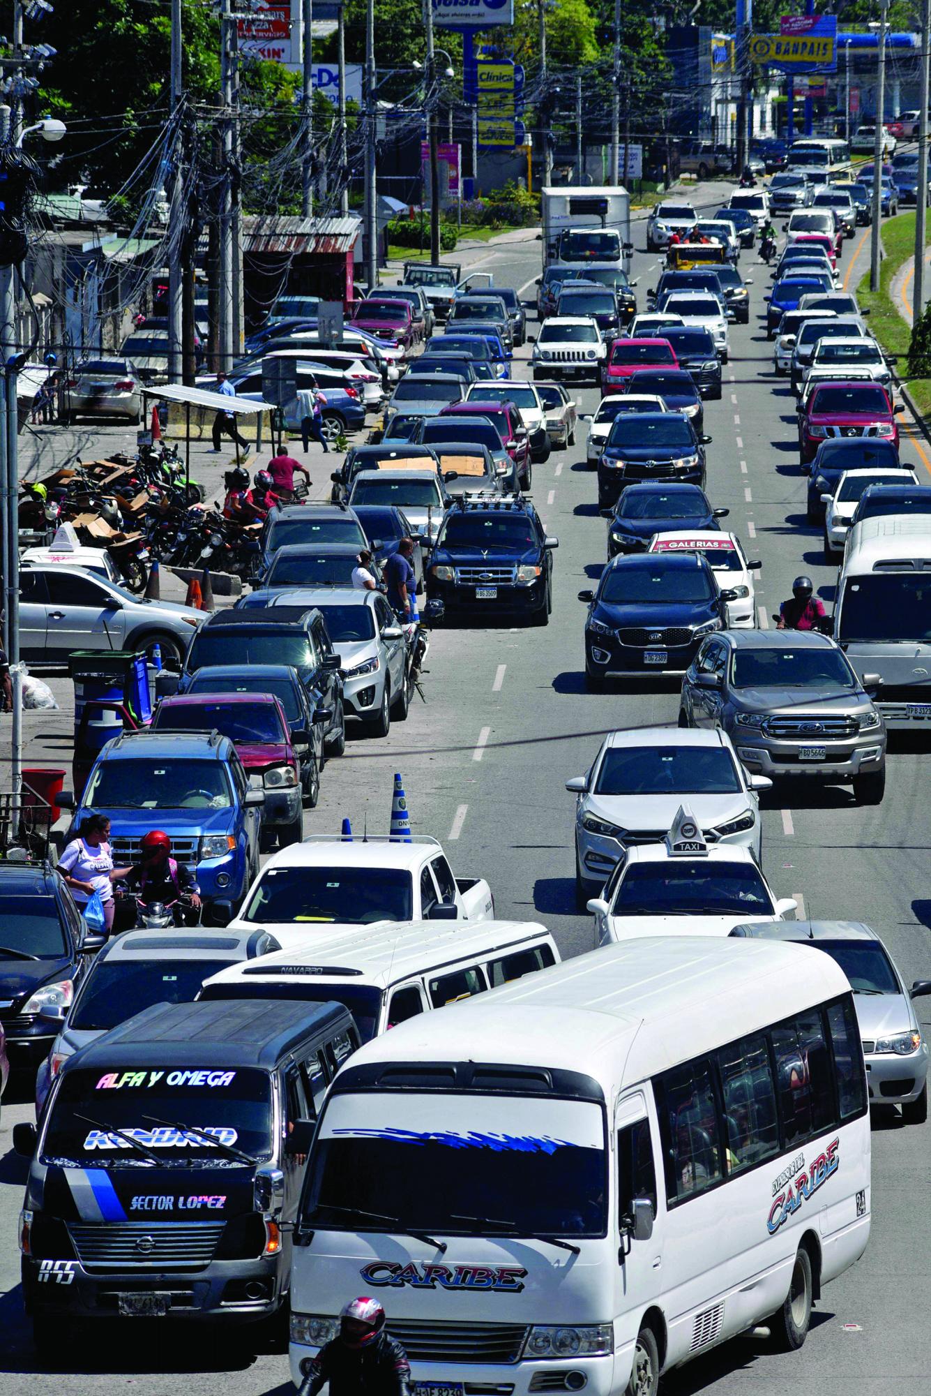
[[[435,1396],[654,1396],[764,1321],[800,1347],[870,1231],[860,1033],[821,959],[627,941],[362,1047],[308,1159],[293,1379],[353,1294]]]

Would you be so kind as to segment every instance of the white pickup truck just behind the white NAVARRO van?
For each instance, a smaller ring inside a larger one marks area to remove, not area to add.
[[[314,931],[389,921],[488,921],[495,899],[484,878],[453,877],[442,845],[426,835],[399,843],[386,835],[311,835],[279,849],[252,882],[230,923],[261,926],[282,949]]]

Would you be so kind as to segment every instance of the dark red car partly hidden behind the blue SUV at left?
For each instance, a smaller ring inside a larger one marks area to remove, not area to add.
[[[177,694],[163,698],[153,732],[212,732],[229,737],[249,783],[265,792],[262,843],[277,835],[279,847],[304,836],[304,804],[315,805],[321,789],[316,761],[309,771],[291,745],[291,729],[273,694]]]

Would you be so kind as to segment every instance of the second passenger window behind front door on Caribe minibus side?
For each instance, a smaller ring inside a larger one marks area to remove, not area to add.
[[[779,1153],[776,1092],[762,1033],[722,1047],[718,1069],[725,1103],[725,1167],[741,1173]]]

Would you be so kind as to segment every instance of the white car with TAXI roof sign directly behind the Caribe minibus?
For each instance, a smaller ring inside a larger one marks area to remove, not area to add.
[[[730,935],[748,916],[782,921],[796,906],[774,896],[753,849],[708,846],[683,804],[662,843],[624,850],[588,910],[595,944],[612,945],[644,935]]]

